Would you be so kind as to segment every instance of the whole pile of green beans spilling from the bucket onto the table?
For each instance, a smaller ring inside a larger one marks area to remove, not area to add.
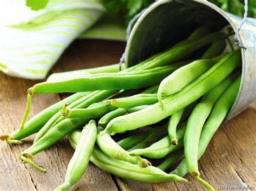
[[[53,74],[28,89],[20,129],[0,139],[21,144],[38,132],[19,159],[46,172],[34,156],[69,135],[75,153],[56,190],[75,185],[89,160],[106,172],[143,182],[186,182],[183,176],[190,173],[213,190],[200,177],[198,159],[231,109],[241,80],[241,54],[223,54],[225,38],[199,27],[184,41],[121,71],[110,65]],[[198,49],[204,53],[198,55]],[[26,122],[31,98],[49,93],[75,94]]]

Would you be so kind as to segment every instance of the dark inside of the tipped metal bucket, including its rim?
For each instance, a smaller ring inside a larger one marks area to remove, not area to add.
[[[211,32],[215,32],[227,25],[231,25],[235,30],[236,26],[223,11],[206,1],[157,2],[150,6],[134,24],[125,49],[125,65],[131,67],[156,53],[169,49],[186,39],[200,26],[208,26]],[[244,63],[244,51],[241,51],[241,54]],[[244,73],[244,64],[242,70]],[[241,88],[226,119],[246,108],[246,104],[242,105],[244,108],[237,107]]]

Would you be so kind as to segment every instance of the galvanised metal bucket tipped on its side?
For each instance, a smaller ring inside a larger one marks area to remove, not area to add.
[[[124,53],[126,67],[165,51],[199,26],[207,25],[213,32],[230,24],[236,31],[241,20],[207,1],[157,1],[142,12],[136,23],[131,23]],[[239,114],[256,100],[256,19],[247,18],[238,39],[247,49],[241,49],[241,85],[226,119]]]

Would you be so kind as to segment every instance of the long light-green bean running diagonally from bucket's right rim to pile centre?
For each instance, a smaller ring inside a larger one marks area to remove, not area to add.
[[[165,98],[163,103],[166,110],[163,110],[161,105],[156,103],[143,110],[114,118],[107,124],[103,133],[109,132],[114,135],[115,133],[137,129],[161,121],[172,115],[174,112],[196,101],[207,91],[217,86],[217,84],[223,81],[239,63],[241,63],[240,52],[235,51],[227,54],[197,80],[188,84],[188,86],[178,93]]]

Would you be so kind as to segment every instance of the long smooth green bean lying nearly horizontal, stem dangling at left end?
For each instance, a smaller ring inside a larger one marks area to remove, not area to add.
[[[161,80],[179,67],[180,65],[164,66],[143,70],[143,72],[119,72],[113,74],[102,73],[78,77],[70,80],[42,82],[35,84],[35,86],[32,88],[29,88],[28,93],[30,95],[38,95],[108,89],[138,89],[160,83]]]

